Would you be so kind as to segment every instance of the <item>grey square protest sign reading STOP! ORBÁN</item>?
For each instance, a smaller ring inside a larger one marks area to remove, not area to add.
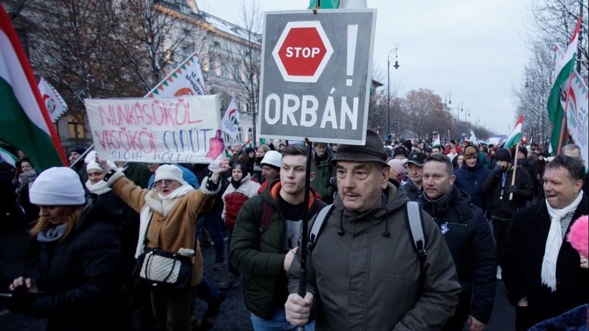
[[[264,13],[257,135],[364,144],[376,9]]]

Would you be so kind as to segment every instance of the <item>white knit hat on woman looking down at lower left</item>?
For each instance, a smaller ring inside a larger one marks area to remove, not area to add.
[[[42,206],[74,206],[86,202],[80,176],[68,167],[52,167],[39,174],[29,188],[29,200]]]

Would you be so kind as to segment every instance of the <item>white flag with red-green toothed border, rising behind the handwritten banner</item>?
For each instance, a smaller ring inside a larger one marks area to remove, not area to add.
[[[176,67],[144,98],[169,98],[181,95],[205,95],[203,72],[200,70],[198,53],[194,52]]]

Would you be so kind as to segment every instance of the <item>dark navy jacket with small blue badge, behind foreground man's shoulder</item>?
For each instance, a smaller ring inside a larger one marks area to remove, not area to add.
[[[487,324],[495,300],[497,259],[485,214],[456,186],[452,186],[448,196],[435,203],[425,197],[425,192],[416,200],[441,227],[454,258],[463,293],[458,305],[470,305],[470,309],[464,310],[469,310],[470,315]]]

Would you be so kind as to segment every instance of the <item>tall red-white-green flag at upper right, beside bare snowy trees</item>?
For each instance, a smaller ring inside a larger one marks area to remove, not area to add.
[[[562,107],[561,98],[567,98],[570,85],[571,74],[575,66],[575,55],[577,55],[577,43],[579,40],[579,30],[581,28],[581,17],[577,21],[577,28],[573,33],[571,41],[568,43],[567,51],[564,56],[558,54],[559,49],[555,47],[555,65],[554,65],[554,86],[550,90],[548,97],[548,117],[552,122],[552,135],[550,138],[551,153],[560,152],[559,146],[562,147],[563,141],[567,140],[567,117]]]

